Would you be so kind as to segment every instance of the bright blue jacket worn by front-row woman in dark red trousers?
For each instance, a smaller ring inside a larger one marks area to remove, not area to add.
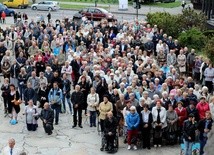
[[[126,124],[128,130],[137,129],[140,124],[139,114],[137,112],[135,112],[134,114],[129,113],[126,117]],[[134,127],[134,129],[132,127]]]

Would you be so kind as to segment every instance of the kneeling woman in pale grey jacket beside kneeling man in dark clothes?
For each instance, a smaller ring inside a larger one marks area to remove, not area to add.
[[[26,124],[28,131],[36,131],[38,124],[38,108],[33,104],[33,100],[28,101],[28,105],[25,107],[25,112],[23,113],[26,115]]]

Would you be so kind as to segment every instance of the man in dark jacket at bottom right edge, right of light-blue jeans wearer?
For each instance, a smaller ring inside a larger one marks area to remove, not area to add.
[[[207,111],[205,113],[205,119],[200,120],[198,123],[198,130],[200,131],[200,136],[199,136],[199,140],[200,140],[200,155],[204,154],[204,146],[207,143],[207,134],[210,132],[210,130],[212,129],[212,123],[213,120],[211,118],[211,113],[209,111]]]

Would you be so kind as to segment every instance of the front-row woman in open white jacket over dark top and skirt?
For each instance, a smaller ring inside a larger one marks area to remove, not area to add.
[[[156,102],[156,106],[152,108],[152,117],[153,117],[153,143],[156,148],[161,147],[162,144],[162,133],[163,129],[167,126],[166,123],[166,109],[162,107],[161,101]]]

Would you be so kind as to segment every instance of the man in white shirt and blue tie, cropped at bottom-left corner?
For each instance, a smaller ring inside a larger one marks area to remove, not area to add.
[[[8,140],[8,146],[6,146],[3,151],[2,155],[20,155],[21,151],[15,147],[16,141],[15,139],[11,138]]]

